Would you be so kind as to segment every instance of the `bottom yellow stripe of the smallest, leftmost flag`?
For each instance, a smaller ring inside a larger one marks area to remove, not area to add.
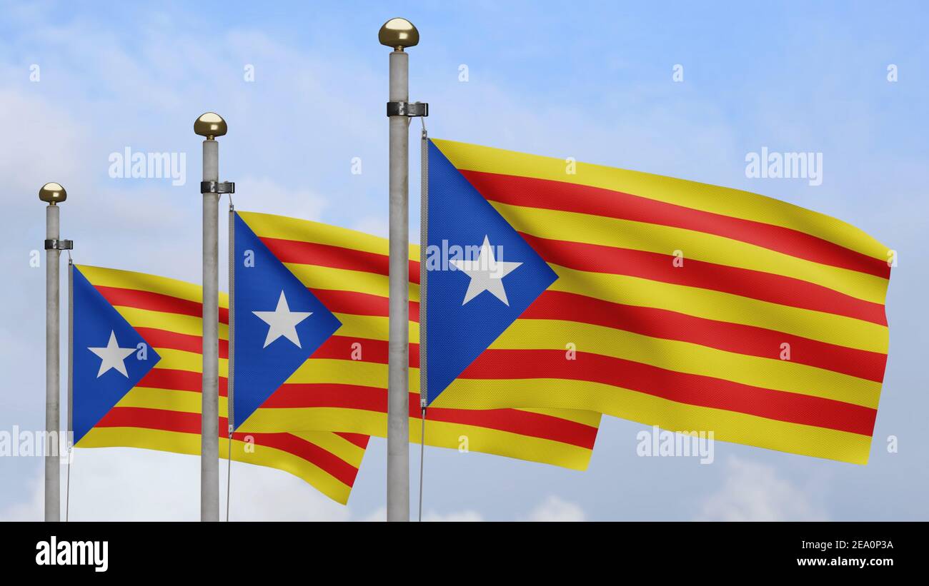
[[[219,439],[220,457],[224,458],[228,451],[225,438]],[[200,455],[200,435],[192,433],[179,433],[177,431],[164,431],[162,429],[145,429],[142,427],[94,427],[80,441],[81,448],[142,448],[157,450],[159,452],[186,453]],[[232,444],[232,459],[247,464],[263,465],[278,468],[302,478],[316,490],[333,499],[337,503],[348,502],[351,487],[334,478],[319,466],[295,456],[289,452],[282,452],[276,448],[256,445],[254,452],[248,452],[245,444],[234,440]]]

